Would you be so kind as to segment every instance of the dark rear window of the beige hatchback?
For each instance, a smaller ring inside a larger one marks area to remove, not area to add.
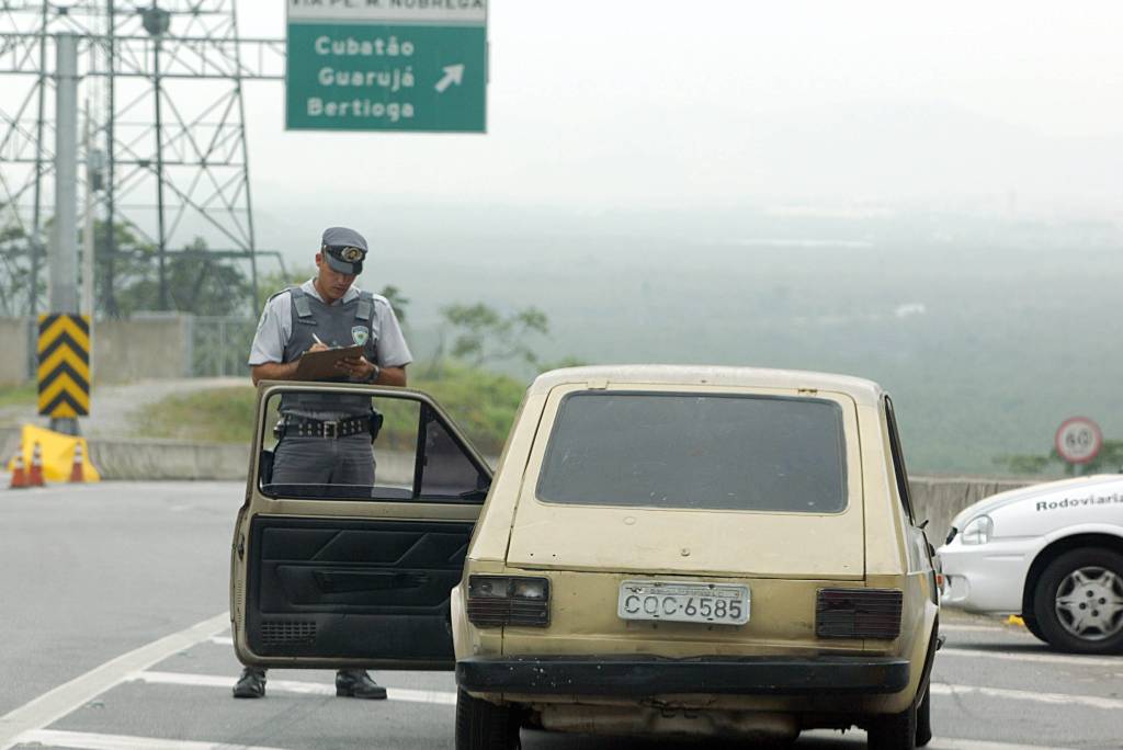
[[[575,505],[838,513],[846,470],[834,401],[588,391],[558,409],[537,495]]]

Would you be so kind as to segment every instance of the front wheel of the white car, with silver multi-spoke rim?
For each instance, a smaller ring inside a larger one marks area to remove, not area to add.
[[[1123,555],[1065,552],[1041,574],[1033,614],[1046,641],[1062,651],[1123,651]]]

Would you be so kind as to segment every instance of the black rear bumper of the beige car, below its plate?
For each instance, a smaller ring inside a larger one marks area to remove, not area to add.
[[[456,682],[469,693],[520,695],[885,695],[909,685],[898,657],[469,657]]]

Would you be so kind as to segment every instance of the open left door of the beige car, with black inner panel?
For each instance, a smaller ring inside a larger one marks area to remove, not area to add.
[[[374,484],[272,482],[281,397],[309,392],[371,399],[373,421],[382,423],[373,439]],[[423,392],[259,384],[231,550],[238,658],[261,667],[451,669],[449,594],[491,476]]]

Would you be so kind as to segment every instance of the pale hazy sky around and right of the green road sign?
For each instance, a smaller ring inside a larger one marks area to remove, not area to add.
[[[240,0],[247,36],[281,2]],[[258,205],[1006,201],[1123,208],[1123,4],[493,0],[486,135],[283,129]]]

